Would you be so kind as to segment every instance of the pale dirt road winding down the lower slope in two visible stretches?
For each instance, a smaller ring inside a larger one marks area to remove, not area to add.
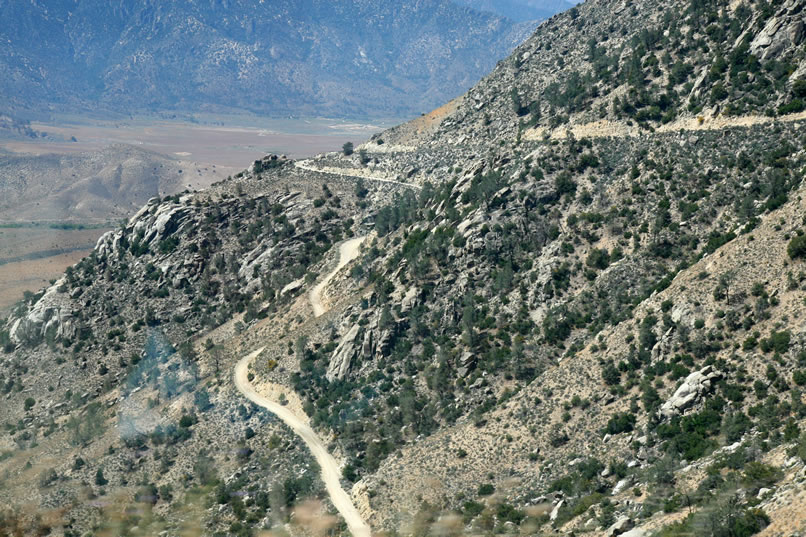
[[[365,238],[366,237],[358,237],[342,243],[339,246],[338,265],[311,291],[309,299],[311,301],[311,305],[313,305],[314,315],[317,317],[326,311],[322,305],[322,291],[325,289],[325,287],[327,287],[327,284],[330,283],[333,277],[336,276],[339,270],[344,268],[347,263],[358,257],[359,247],[361,246],[361,243],[364,242]],[[238,364],[235,366],[235,386],[238,388],[238,391],[244,395],[244,397],[256,405],[262,406],[283,420],[283,422],[285,422],[285,424],[288,425],[297,436],[302,438],[302,441],[305,442],[305,445],[307,445],[308,449],[311,450],[316,462],[319,464],[319,467],[322,470],[322,481],[325,482],[325,488],[330,496],[330,500],[333,502],[333,505],[336,507],[339,513],[341,513],[341,516],[344,517],[344,521],[347,523],[350,533],[353,534],[353,537],[370,537],[372,534],[370,527],[366,522],[364,522],[364,519],[361,518],[361,515],[355,508],[355,505],[353,505],[353,501],[350,499],[350,495],[347,494],[343,488],[341,488],[341,472],[339,470],[339,464],[336,462],[336,459],[334,459],[333,456],[327,451],[327,447],[325,446],[324,442],[322,442],[313,429],[311,429],[290,409],[257,393],[255,388],[249,382],[249,363],[261,352],[263,352],[264,348],[265,347],[262,347],[254,352],[251,352],[240,359]]]

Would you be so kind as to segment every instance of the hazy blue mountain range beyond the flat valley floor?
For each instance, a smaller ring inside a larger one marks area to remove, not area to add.
[[[502,14],[523,21],[568,6],[0,0],[0,96],[6,112],[29,115],[42,109],[410,115],[468,89],[535,28],[534,21]]]

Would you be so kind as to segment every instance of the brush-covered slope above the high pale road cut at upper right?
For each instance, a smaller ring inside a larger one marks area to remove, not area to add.
[[[804,35],[796,0],[585,2],[543,22],[421,141],[637,135],[800,113]]]

